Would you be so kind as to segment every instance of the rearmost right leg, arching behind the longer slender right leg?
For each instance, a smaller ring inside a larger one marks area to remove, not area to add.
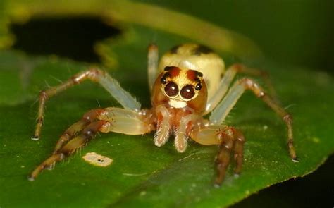
[[[261,77],[262,80],[264,80],[266,87],[268,87],[269,93],[271,94],[273,99],[275,99],[275,101],[278,100],[276,99],[276,91],[271,84],[268,73],[266,73],[265,71],[261,71],[257,68],[248,68],[242,64],[233,64],[225,72],[223,78],[221,79],[221,82],[217,87],[217,92],[214,94],[214,96],[209,97],[208,102],[206,103],[206,109],[204,114],[209,114],[209,112],[215,109],[218,103],[221,102],[221,99],[223,99],[226,92],[228,92],[228,87],[230,87],[230,84],[233,81],[233,78],[235,78],[235,75],[237,75],[237,73],[245,73],[247,75]]]

